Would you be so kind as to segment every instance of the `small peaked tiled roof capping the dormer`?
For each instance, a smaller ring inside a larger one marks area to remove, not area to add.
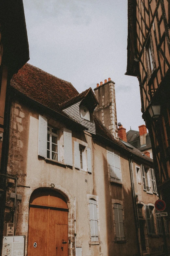
[[[90,87],[90,88],[87,89],[86,91],[84,91],[84,92],[82,92],[82,93],[80,93],[80,94],[74,96],[73,98],[71,98],[71,99],[69,99],[69,100],[64,101],[63,103],[61,103],[61,104],[60,104],[60,108],[61,108],[61,109],[67,108],[67,107],[73,105],[74,103],[76,103],[76,102],[82,100],[83,98],[85,98],[85,97],[86,97],[88,94],[90,94],[90,93],[91,93],[91,95],[92,95],[92,97],[93,97],[94,104],[95,104],[95,105],[99,104],[99,103],[98,103],[98,100],[97,100],[97,98],[96,98],[96,96],[95,96],[95,94],[93,93],[92,88]]]

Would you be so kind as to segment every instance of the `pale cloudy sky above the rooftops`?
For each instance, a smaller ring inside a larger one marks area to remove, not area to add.
[[[142,119],[139,83],[125,76],[127,0],[23,0],[29,63],[79,93],[108,77],[115,82],[117,120],[126,131]]]

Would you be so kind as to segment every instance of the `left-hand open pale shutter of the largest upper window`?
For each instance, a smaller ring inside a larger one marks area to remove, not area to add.
[[[47,158],[47,118],[38,119],[38,155]]]

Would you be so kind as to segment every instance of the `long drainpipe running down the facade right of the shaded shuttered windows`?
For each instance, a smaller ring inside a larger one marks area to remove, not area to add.
[[[130,177],[131,177],[131,188],[132,188],[132,201],[133,201],[133,208],[134,208],[134,217],[135,217],[135,229],[136,229],[136,236],[137,236],[137,250],[138,255],[142,255],[141,252],[141,245],[140,245],[140,236],[139,236],[139,221],[137,215],[137,205],[136,205],[136,196],[135,196],[135,186],[134,186],[134,178],[132,173],[132,155],[129,157],[129,170],[130,170]]]

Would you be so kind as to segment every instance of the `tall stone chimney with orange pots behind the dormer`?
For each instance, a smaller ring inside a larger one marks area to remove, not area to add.
[[[110,78],[105,79],[105,83],[100,82],[100,86],[94,89],[94,93],[99,102],[94,114],[102,124],[111,132],[115,139],[118,139],[115,83]]]

